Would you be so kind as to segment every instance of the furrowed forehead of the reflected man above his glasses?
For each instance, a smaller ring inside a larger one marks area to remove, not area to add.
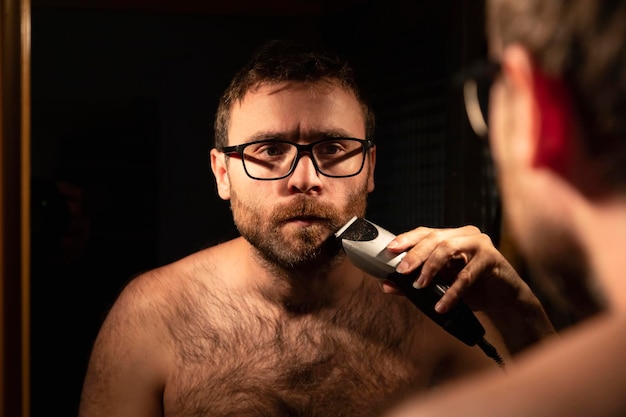
[[[324,132],[365,138],[365,116],[354,93],[340,84],[281,82],[251,90],[231,110],[229,144],[276,133],[291,140]]]

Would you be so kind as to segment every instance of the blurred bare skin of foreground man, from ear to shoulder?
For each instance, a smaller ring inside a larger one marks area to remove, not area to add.
[[[561,276],[568,296],[584,287],[604,309],[525,351],[506,376],[461,379],[386,416],[623,416],[626,198],[605,186],[567,96],[545,82],[528,51],[496,41],[491,52],[503,68],[491,91],[489,140],[506,220],[535,271]]]

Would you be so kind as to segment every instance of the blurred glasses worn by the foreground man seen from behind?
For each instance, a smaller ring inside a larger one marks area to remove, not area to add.
[[[459,75],[467,118],[474,133],[481,137],[489,131],[489,91],[499,73],[499,62],[478,61]]]

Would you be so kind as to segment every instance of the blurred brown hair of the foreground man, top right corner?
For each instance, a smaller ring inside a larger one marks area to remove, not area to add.
[[[490,41],[565,83],[586,151],[626,187],[626,0],[487,0],[487,20]]]

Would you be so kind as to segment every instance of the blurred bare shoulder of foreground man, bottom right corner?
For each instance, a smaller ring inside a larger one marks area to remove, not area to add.
[[[458,379],[385,417],[626,414],[626,317],[592,319],[520,355],[512,372]]]

